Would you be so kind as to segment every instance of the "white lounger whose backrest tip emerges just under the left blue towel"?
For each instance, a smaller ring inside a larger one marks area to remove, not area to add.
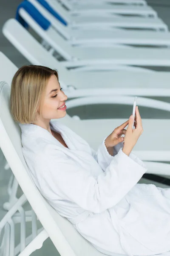
[[[43,30],[35,20],[24,10],[19,11],[24,20],[33,28],[40,37],[53,47],[55,51],[62,58],[67,61],[74,60],[73,63],[63,64],[66,67],[78,67],[78,66],[99,66],[99,69],[115,69],[115,65],[133,65],[131,69],[136,69],[136,66],[170,66],[168,54],[169,49],[150,49],[150,48],[136,48],[136,49],[113,49],[103,47],[87,47],[77,48],[71,47],[59,34],[54,30]],[[109,66],[106,64],[109,64]]]

